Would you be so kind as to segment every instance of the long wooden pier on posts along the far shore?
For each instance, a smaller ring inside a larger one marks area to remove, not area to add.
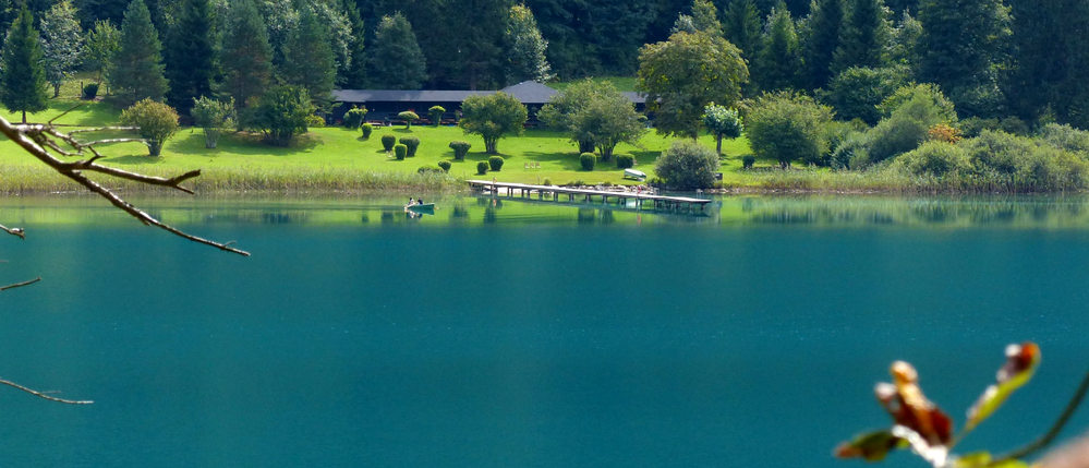
[[[614,200],[620,205],[626,205],[628,201],[631,200],[634,201],[637,207],[642,207],[644,203],[650,202],[656,209],[700,212],[703,211],[704,206],[711,203],[711,200],[692,199],[688,196],[609,192],[607,190],[573,189],[556,185],[531,185],[528,183],[493,182],[487,180],[470,180],[468,182],[469,187],[473,191],[477,192],[491,191],[493,194],[498,195],[500,190],[505,190],[508,197],[519,196],[522,199],[533,199],[535,194],[537,200],[552,200],[554,202],[562,202],[561,195],[567,195],[567,202],[574,202],[576,200],[592,202],[596,197],[605,204],[609,203],[609,200]]]

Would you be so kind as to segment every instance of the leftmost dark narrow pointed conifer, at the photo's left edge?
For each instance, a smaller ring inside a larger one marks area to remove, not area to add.
[[[11,112],[46,110],[49,98],[46,91],[46,71],[41,67],[41,45],[34,29],[34,15],[25,5],[19,11],[8,31],[0,56],[0,101]]]

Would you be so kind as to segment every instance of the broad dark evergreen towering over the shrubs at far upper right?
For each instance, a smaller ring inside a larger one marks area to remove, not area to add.
[[[996,116],[1004,98],[999,71],[1007,60],[1009,9],[1002,0],[922,0],[919,75],[936,83],[969,116]]]

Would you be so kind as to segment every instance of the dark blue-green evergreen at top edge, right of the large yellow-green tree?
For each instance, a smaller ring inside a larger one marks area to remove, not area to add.
[[[888,44],[883,0],[847,0],[847,15],[832,63],[834,73],[851,67],[878,68]]]

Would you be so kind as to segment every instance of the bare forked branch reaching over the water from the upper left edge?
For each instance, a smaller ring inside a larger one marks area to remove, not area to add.
[[[132,128],[106,128],[106,129],[132,130]],[[96,129],[96,130],[102,130],[102,129]],[[101,166],[97,164],[96,160],[101,158],[102,155],[100,155],[97,151],[95,151],[94,147],[90,146],[90,144],[81,143],[76,141],[74,137],[72,137],[71,133],[75,132],[70,132],[69,134],[64,134],[58,132],[51,125],[44,125],[44,124],[13,125],[7,119],[0,118],[0,132],[7,135],[8,139],[10,139],[11,141],[15,142],[17,145],[22,146],[23,149],[26,149],[27,153],[38,158],[38,160],[51,167],[61,176],[72,179],[76,183],[85,187],[87,190],[99,194],[104,199],[108,200],[113,206],[117,206],[118,208],[124,211],[132,217],[140,219],[141,223],[144,223],[145,225],[158,227],[162,230],[166,230],[181,238],[189,239],[193,242],[211,245],[222,251],[233,252],[240,255],[250,256],[249,252],[231,247],[233,242],[216,242],[213,240],[186,233],[170,225],[161,223],[158,219],[154,218],[152,215],[148,215],[144,211],[137,208],[135,205],[125,202],[123,199],[111,192],[109,189],[99,185],[97,182],[88,179],[86,176],[83,175],[84,171],[98,172],[107,176],[117,177],[119,179],[126,179],[141,183],[147,183],[150,185],[167,187],[192,194],[193,191],[182,187],[181,183],[189,179],[199,176],[201,175],[199,170],[192,170],[183,175],[167,179],[167,178],[145,176],[142,173],[130,172],[126,170]],[[77,160],[73,163],[65,163],[63,160],[60,160],[44,147],[44,145],[50,147],[57,146],[56,142],[49,140],[50,136],[60,139],[65,143],[70,144],[73,148],[75,148],[76,154],[83,153],[84,149],[89,149],[94,154],[94,156],[88,159]],[[49,141],[50,143],[39,143],[43,141]],[[8,230],[8,232],[13,233],[11,230]]]

